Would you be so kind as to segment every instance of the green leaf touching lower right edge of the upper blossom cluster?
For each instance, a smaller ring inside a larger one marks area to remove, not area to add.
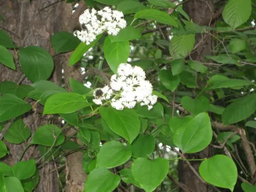
[[[133,1],[136,3],[136,1]],[[139,29],[133,26],[127,26],[125,29],[121,29],[118,35],[109,35],[111,42],[121,42],[121,41],[131,41],[134,39],[139,39],[141,37],[141,32]]]

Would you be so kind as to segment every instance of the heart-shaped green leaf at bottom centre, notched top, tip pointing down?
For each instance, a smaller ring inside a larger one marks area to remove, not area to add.
[[[146,191],[152,192],[159,186],[169,171],[169,162],[163,158],[148,160],[139,157],[131,165],[134,179]]]

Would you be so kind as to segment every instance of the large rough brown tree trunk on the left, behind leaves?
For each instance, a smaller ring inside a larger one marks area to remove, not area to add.
[[[83,10],[85,9],[84,6],[84,4],[81,6]],[[50,37],[62,30],[73,31],[79,13],[72,15],[72,9],[72,4],[65,3],[63,0],[0,0],[1,15],[5,19],[5,22],[0,21],[0,29],[9,33],[17,46],[39,46],[54,55],[54,51],[51,49]],[[78,10],[81,12],[82,9]],[[17,70],[10,70],[0,64],[0,83],[2,81],[13,81],[17,84],[31,84],[23,76],[18,62],[18,55],[15,52],[12,53]],[[79,68],[68,67],[69,56],[70,53],[64,53],[54,57],[55,69],[50,79],[61,86],[63,84],[61,70],[64,69],[64,84],[68,90],[69,78],[82,81]],[[39,126],[49,123],[47,116],[45,117],[35,112],[30,112],[22,117],[25,124],[31,129],[32,134]],[[7,126],[5,130],[6,128]],[[6,145],[9,148],[10,155],[3,162],[12,166],[18,161],[25,144],[13,145],[6,142]],[[31,146],[23,156],[23,160],[35,158],[38,155],[38,149],[35,146]],[[71,170],[67,172],[67,192],[83,191],[86,175],[81,169],[81,157],[81,153],[67,157],[67,170]],[[58,192],[58,175],[56,171],[52,172],[55,166],[48,163],[40,170],[40,182],[36,189],[37,192]]]

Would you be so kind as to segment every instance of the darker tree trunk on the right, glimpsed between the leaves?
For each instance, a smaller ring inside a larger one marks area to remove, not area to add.
[[[201,24],[205,23],[206,19],[211,17],[212,12],[214,12],[213,0],[189,0],[184,3],[183,9],[189,15],[190,19],[194,23]],[[204,38],[204,43],[198,44]],[[202,34],[196,34],[195,45],[198,44],[198,49],[191,54],[193,60],[203,61],[203,55],[211,55],[212,51],[212,39],[204,37]],[[206,157],[211,157],[211,148],[207,147],[203,151],[195,154],[186,154],[188,159],[203,159]],[[201,161],[189,161],[192,167],[198,172]],[[194,192],[213,192],[214,189],[201,182],[201,180],[192,172],[186,162],[180,160],[178,163],[178,173],[179,181],[184,183],[189,189]],[[180,192],[183,192],[180,189]]]

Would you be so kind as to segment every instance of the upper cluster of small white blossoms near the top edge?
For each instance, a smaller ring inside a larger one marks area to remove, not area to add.
[[[120,29],[126,27],[123,16],[122,12],[112,10],[109,7],[99,11],[86,9],[79,17],[82,30],[75,31],[74,35],[82,42],[86,42],[87,45],[104,31],[107,31],[109,35],[117,35]]]

